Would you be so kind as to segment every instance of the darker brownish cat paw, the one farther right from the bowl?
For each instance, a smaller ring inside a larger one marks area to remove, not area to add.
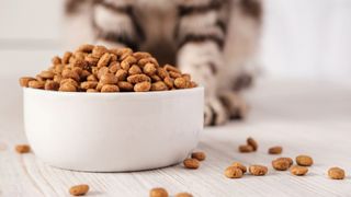
[[[235,92],[224,92],[219,95],[223,106],[230,119],[245,119],[249,107],[245,100]]]

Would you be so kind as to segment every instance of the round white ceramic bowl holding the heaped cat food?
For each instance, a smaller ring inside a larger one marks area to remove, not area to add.
[[[203,129],[204,90],[69,93],[23,89],[24,127],[44,162],[92,172],[181,162]]]

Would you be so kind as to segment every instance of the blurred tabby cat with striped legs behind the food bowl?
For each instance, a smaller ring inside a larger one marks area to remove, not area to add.
[[[205,88],[205,125],[244,118],[258,63],[261,0],[66,0],[65,36],[149,51]]]

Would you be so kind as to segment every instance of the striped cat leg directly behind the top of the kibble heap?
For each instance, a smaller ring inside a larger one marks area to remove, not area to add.
[[[109,47],[129,47],[136,50],[145,39],[135,15],[134,1],[131,0],[97,1],[92,26],[97,44]]]

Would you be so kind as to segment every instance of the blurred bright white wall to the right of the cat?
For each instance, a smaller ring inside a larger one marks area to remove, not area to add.
[[[273,77],[351,79],[350,0],[263,0],[261,60]]]

